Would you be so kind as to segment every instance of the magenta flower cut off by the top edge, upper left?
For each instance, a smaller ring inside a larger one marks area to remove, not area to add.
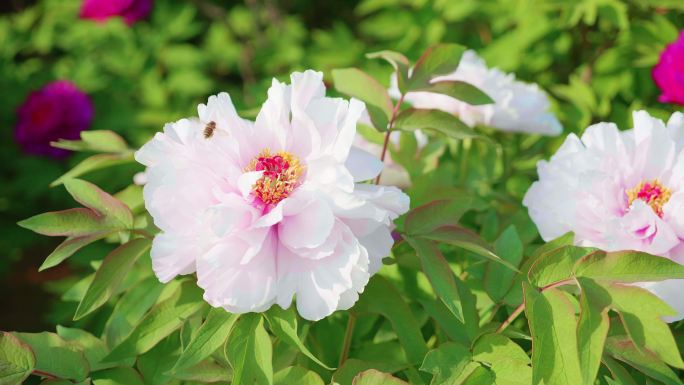
[[[121,16],[131,25],[144,19],[152,10],[152,0],[83,0],[81,19],[105,21]]]

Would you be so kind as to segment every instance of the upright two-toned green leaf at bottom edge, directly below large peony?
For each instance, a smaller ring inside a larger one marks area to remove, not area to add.
[[[273,384],[273,348],[260,314],[244,314],[226,343],[226,357],[233,367],[233,385]]]

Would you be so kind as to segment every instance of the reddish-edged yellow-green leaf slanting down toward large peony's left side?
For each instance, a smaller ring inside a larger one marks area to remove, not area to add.
[[[95,210],[108,221],[113,221],[115,224],[112,227],[133,227],[133,213],[128,206],[94,184],[80,179],[69,179],[64,182],[64,187],[78,203]]]

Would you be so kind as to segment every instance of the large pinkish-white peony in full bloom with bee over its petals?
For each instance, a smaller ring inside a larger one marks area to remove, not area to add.
[[[296,297],[302,317],[318,320],[356,302],[409,199],[359,183],[382,169],[352,147],[364,105],[325,97],[322,78],[273,80],[255,122],[228,94],[212,96],[199,119],[167,124],[136,153],[161,229],[151,254],[162,282],[196,272],[205,300],[234,313]]]

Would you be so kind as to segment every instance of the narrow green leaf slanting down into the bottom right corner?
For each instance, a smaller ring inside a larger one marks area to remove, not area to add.
[[[682,385],[682,381],[677,374],[655,354],[640,351],[628,338],[608,337],[606,340],[606,351],[617,360],[625,362],[641,373],[665,385]]]

